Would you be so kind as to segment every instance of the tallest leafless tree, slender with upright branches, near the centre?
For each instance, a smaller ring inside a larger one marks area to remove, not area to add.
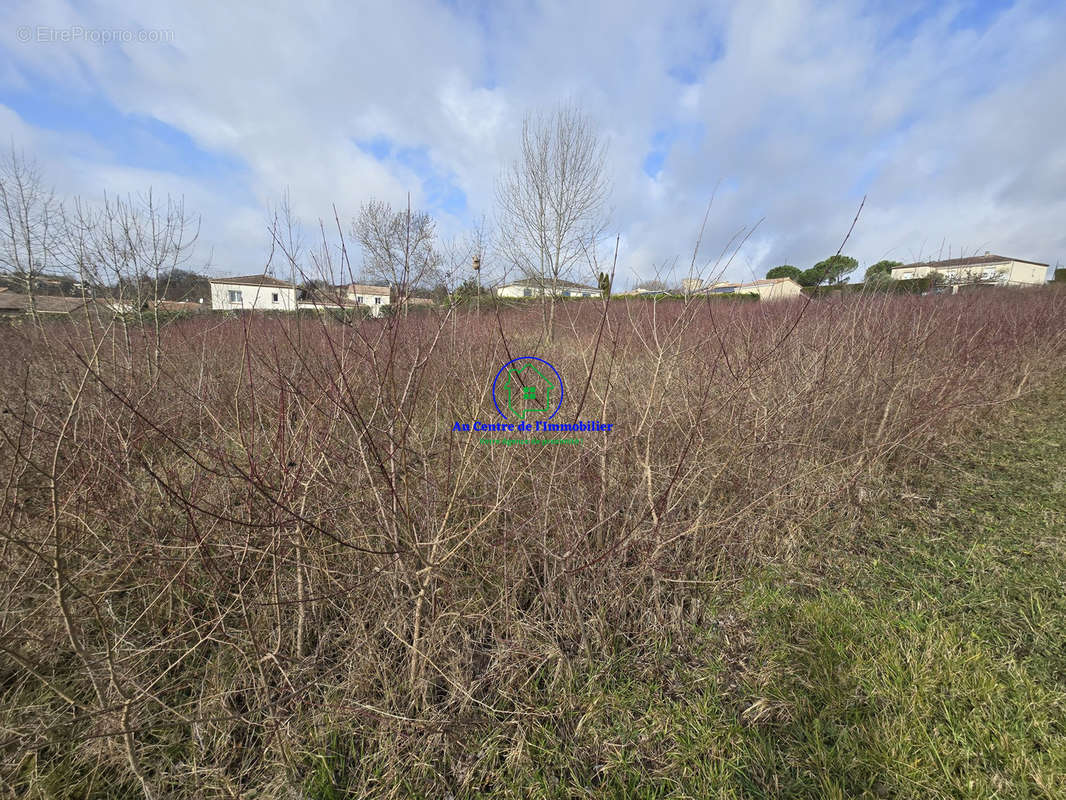
[[[497,182],[501,250],[544,298],[554,329],[560,281],[594,253],[608,222],[607,144],[578,107],[522,124],[521,156]]]

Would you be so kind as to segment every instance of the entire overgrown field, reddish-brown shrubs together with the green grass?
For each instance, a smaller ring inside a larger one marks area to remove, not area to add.
[[[0,327],[0,781],[1061,796],[1064,301]],[[611,432],[455,432],[520,355]]]

